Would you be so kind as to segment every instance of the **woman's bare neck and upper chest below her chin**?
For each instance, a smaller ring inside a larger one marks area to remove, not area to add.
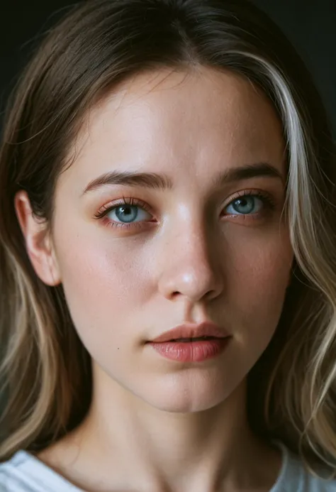
[[[63,440],[56,458],[42,458],[77,486],[90,492],[215,492],[267,491],[274,484],[281,458],[247,425],[245,381],[213,408],[174,413],[147,405],[111,378],[98,377],[99,371],[94,368],[86,419]]]

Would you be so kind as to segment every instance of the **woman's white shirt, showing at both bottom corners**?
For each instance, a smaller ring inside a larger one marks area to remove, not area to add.
[[[336,492],[336,480],[308,474],[301,461],[279,444],[282,466],[269,492]],[[18,451],[0,464],[0,492],[84,492],[26,451]]]

